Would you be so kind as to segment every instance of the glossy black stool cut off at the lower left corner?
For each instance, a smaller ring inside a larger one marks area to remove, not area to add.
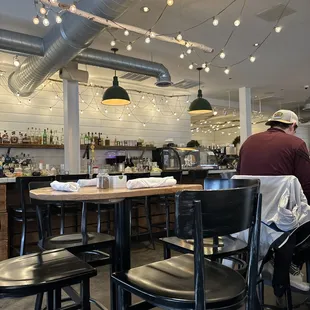
[[[38,295],[42,300],[47,292],[48,309],[61,309],[60,290],[80,283],[74,309],[90,309],[89,279],[96,274],[96,269],[64,249],[15,257],[0,262],[0,298]],[[35,309],[41,306],[36,304]]]

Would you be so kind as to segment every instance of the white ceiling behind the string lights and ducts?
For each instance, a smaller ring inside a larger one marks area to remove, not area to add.
[[[82,0],[86,1],[86,0]],[[70,3],[71,1],[64,1]],[[190,27],[200,21],[214,16],[224,8],[231,0],[206,1],[206,0],[175,0],[172,7],[168,7],[162,19],[153,29],[158,33],[174,33]],[[131,7],[120,19],[119,22],[132,24],[149,29],[164,8],[166,0],[140,0]],[[214,64],[227,66],[235,63],[253,51],[253,44],[261,42],[273,28],[274,23],[266,22],[257,16],[257,13],[271,8],[279,3],[286,4],[281,0],[248,0],[244,8],[241,25],[236,29],[230,40],[224,60],[218,58]],[[48,30],[40,25],[35,26],[32,18],[36,15],[33,0],[1,0],[0,28],[24,32],[28,34],[44,36]],[[197,41],[215,49],[214,53],[221,50],[230,32],[233,29],[233,21],[239,16],[243,0],[237,0],[228,10],[219,16],[220,23],[217,27],[212,21],[194,30],[183,33],[184,39]],[[142,13],[140,8],[147,5],[151,11]],[[310,2],[308,0],[291,1],[289,7],[296,10],[296,13],[285,17],[281,21],[283,30],[281,33],[273,33],[266,43],[258,50],[256,62],[246,61],[231,69],[227,76],[223,69],[211,68],[210,73],[202,73],[203,93],[210,98],[228,98],[227,91],[231,91],[231,99],[238,99],[238,88],[241,86],[253,88],[253,95],[258,98],[268,98],[263,101],[278,106],[280,103],[287,103],[296,106],[296,102],[303,102],[309,95],[304,90],[304,85],[310,84],[309,72],[309,51],[308,29],[310,29]],[[51,27],[51,26],[50,26]],[[134,41],[137,37],[131,34],[125,37],[122,31],[114,31],[117,39]],[[96,49],[110,49],[111,36],[104,32],[93,43]],[[192,53],[184,60],[179,58],[182,51],[178,45],[152,40],[145,44],[144,39],[137,41],[131,52],[126,50],[125,44],[118,44],[119,53],[139,57],[163,63],[171,72],[174,82],[182,79],[197,80],[197,72],[189,70],[191,62],[201,64],[210,61],[212,54],[205,54],[202,51]],[[0,62],[11,63],[12,55],[0,54]],[[111,76],[109,70],[88,67],[91,80],[100,80]],[[231,78],[231,79],[230,79]],[[145,85],[153,85],[154,79],[143,82]],[[159,91],[159,90],[158,90]],[[173,92],[173,89],[169,90]],[[192,89],[195,93],[197,90]]]

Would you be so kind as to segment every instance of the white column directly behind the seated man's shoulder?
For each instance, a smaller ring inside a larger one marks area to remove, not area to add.
[[[239,88],[239,112],[240,143],[242,144],[252,134],[252,104],[250,88]]]

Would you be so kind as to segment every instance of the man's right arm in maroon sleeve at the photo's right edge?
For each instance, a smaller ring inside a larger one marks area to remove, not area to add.
[[[296,150],[294,164],[295,176],[301,184],[308,203],[310,203],[310,158],[305,142]]]

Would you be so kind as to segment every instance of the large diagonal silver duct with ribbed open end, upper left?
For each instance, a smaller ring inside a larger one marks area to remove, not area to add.
[[[77,7],[91,14],[115,19],[136,0],[82,0]],[[46,79],[87,48],[105,28],[78,15],[65,12],[63,22],[56,24],[43,38],[44,57],[28,57],[9,77],[9,87],[20,96],[29,96]],[[27,44],[27,42],[25,42]]]

